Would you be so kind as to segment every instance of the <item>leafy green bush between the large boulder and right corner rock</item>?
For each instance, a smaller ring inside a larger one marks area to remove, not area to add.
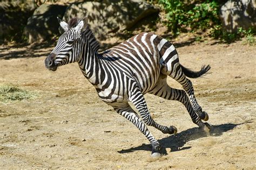
[[[220,25],[217,0],[207,0],[198,4],[181,0],[158,0],[157,4],[164,9],[165,24],[174,34],[206,30],[214,25]]]

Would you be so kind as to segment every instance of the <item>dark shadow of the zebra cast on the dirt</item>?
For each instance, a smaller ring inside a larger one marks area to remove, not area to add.
[[[244,123],[241,123],[244,124]],[[212,125],[210,136],[221,136],[223,132],[234,129],[236,126],[241,124],[221,124],[221,125]],[[169,137],[158,140],[161,145],[161,153],[166,155],[166,148],[171,148],[171,152],[187,150],[191,146],[183,147],[188,141],[196,140],[199,138],[207,137],[207,134],[200,130],[199,128],[191,128],[185,131],[179,132],[177,134],[171,135]],[[131,147],[125,150],[118,151],[118,153],[129,153],[134,151],[151,151],[151,144],[142,144],[137,147]]]

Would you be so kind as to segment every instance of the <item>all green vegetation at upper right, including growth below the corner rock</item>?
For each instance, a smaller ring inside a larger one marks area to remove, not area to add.
[[[165,12],[164,24],[174,36],[180,32],[203,31],[208,32],[205,35],[223,42],[230,43],[245,37],[244,44],[255,44],[255,30],[245,31],[240,28],[237,33],[223,31],[218,14],[225,1],[156,0],[151,3],[160,6]],[[201,37],[197,38],[200,39]]]

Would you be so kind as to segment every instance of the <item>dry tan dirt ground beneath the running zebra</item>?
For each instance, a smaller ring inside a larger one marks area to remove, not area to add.
[[[165,152],[156,160],[149,141],[99,100],[77,63],[50,72],[44,59],[53,46],[1,46],[0,83],[38,94],[0,103],[1,169],[255,169],[255,46],[241,41],[176,46],[185,67],[212,67],[211,74],[191,79],[212,133],[201,133],[181,103],[147,94],[154,120],[178,129],[170,136],[149,127]]]

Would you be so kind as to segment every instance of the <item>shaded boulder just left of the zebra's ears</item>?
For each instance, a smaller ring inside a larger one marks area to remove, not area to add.
[[[58,19],[62,18],[66,10],[65,5],[43,4],[39,6],[28,19],[24,28],[24,36],[31,44],[33,42],[49,40],[59,34]]]

